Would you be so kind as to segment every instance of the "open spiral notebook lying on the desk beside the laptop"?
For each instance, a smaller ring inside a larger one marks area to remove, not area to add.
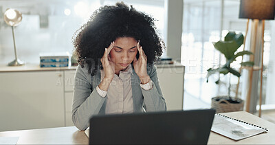
[[[211,131],[233,140],[243,140],[260,133],[267,133],[268,129],[242,120],[230,118],[226,115],[215,114]]]

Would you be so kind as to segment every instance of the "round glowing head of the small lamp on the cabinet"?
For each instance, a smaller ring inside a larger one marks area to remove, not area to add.
[[[4,21],[10,26],[17,26],[22,21],[22,13],[18,10],[9,8],[5,11]]]

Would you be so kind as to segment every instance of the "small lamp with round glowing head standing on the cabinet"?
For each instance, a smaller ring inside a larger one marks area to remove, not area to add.
[[[21,60],[19,60],[19,58],[17,58],[17,47],[15,46],[15,38],[14,38],[14,26],[17,26],[21,23],[22,14],[18,10],[9,8],[5,11],[4,20],[5,20],[5,23],[7,23],[8,25],[10,25],[12,27],[12,38],[13,38],[14,55],[15,55],[15,60],[8,63],[8,65],[9,66],[25,65],[25,63],[23,61],[21,61]]]

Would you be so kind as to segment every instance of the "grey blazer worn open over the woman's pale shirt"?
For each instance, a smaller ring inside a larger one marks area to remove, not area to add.
[[[102,98],[96,91],[96,87],[100,84],[100,70],[98,69],[97,73],[91,76],[87,68],[89,68],[87,65],[83,68],[78,65],[74,77],[72,121],[80,130],[87,129],[91,116],[104,114],[106,108],[106,98]],[[133,112],[144,112],[144,109],[146,112],[166,111],[166,102],[159,86],[155,65],[151,67],[147,65],[147,73],[153,81],[153,88],[150,90],[140,87],[140,78],[133,69],[133,76],[131,76]]]

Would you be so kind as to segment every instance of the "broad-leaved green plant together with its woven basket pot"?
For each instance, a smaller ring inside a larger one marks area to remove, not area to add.
[[[241,74],[236,69],[232,68],[231,64],[236,60],[237,57],[243,56],[243,55],[251,55],[252,52],[249,51],[242,51],[237,52],[237,49],[241,47],[243,44],[243,34],[236,34],[235,32],[228,32],[226,34],[224,41],[218,41],[213,43],[214,48],[219,50],[221,54],[223,54],[226,58],[226,62],[224,65],[221,65],[221,67],[218,67],[216,69],[210,68],[208,69],[208,74],[206,76],[208,82],[209,76],[212,74],[219,73],[226,75],[234,75],[236,77],[240,77]],[[252,66],[254,65],[253,62],[243,62],[241,63],[241,66]],[[230,79],[229,79],[230,80]],[[219,84],[219,80],[216,81],[216,84]],[[211,107],[216,109],[217,113],[222,112],[230,112],[230,111],[241,111],[243,110],[243,104],[244,101],[239,98],[232,98],[230,96],[230,81],[228,82],[228,96],[217,96],[212,98]]]

